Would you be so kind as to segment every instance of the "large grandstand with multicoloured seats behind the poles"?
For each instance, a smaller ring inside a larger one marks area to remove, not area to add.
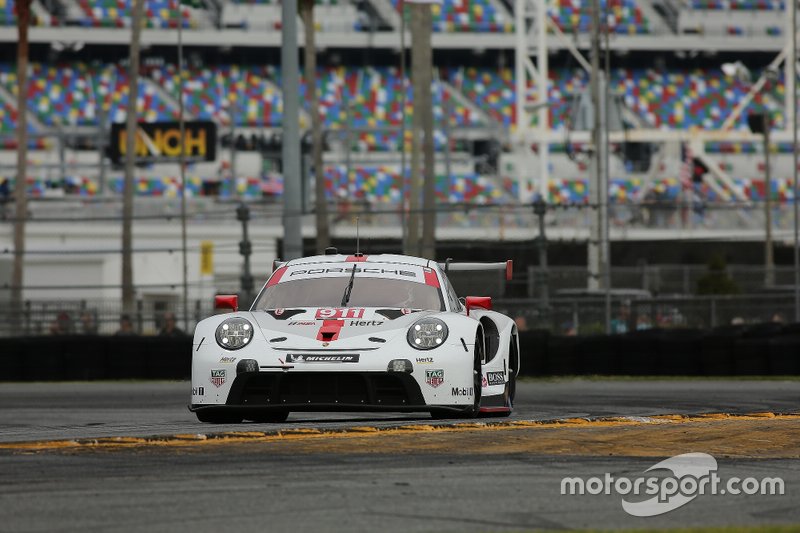
[[[213,121],[220,135],[217,160],[187,169],[193,223],[202,224],[202,213],[228,201],[279,205],[281,2],[191,4],[146,0],[137,110],[143,122],[178,118],[181,72],[174,45],[180,25],[186,118]],[[16,97],[24,90],[31,134],[28,191],[47,201],[34,211],[68,213],[76,205],[70,202],[78,201],[81,209],[106,213],[122,190],[122,169],[101,154],[110,125],[125,120],[131,1],[35,0],[32,7],[29,84],[20,88],[14,2],[0,0],[0,48],[6,51],[0,55],[0,199],[13,185],[14,132],[21,126]],[[785,7],[778,0],[601,2],[609,93],[622,126],[611,134],[608,193],[615,239],[759,239],[765,154],[748,115],[761,112],[769,114],[773,131],[774,226],[789,230],[791,84],[783,66],[773,81],[749,94],[784,47]],[[472,238],[478,228],[486,230],[486,239],[531,238],[530,202],[542,190],[535,183],[540,139],[533,117],[534,137],[520,143],[513,8],[512,0],[444,0],[434,7],[436,200],[450,209],[440,216],[446,238]],[[347,213],[369,210],[375,216],[361,223],[373,226],[376,235],[396,238],[394,213],[407,190],[414,110],[410,79],[399,68],[402,3],[317,0],[315,13],[332,224],[347,228]],[[580,119],[589,76],[569,49],[577,45],[586,54],[589,2],[547,0],[547,15],[544,199],[565,208],[548,214],[548,231],[555,240],[585,240],[594,203],[589,133]],[[299,18],[298,28],[304,31]],[[749,75],[742,69],[731,74],[729,64],[746,67]],[[527,105],[541,105],[533,96],[537,80],[531,76],[526,86]],[[299,94],[305,132],[311,121],[302,76]],[[525,144],[533,149],[521,150]],[[698,160],[704,173],[696,175]],[[174,215],[178,175],[174,164],[137,167],[137,209]],[[238,263],[226,268],[230,276]]]

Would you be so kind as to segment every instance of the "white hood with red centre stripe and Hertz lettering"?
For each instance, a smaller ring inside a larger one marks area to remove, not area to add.
[[[293,308],[255,311],[253,317],[271,346],[292,349],[376,348],[417,320],[436,314],[397,308]],[[283,339],[285,337],[285,340]]]

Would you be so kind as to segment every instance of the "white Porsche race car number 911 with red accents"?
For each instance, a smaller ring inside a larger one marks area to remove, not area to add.
[[[198,323],[189,409],[202,422],[281,422],[291,411],[427,411],[508,416],[519,372],[516,324],[488,297],[457,297],[446,263],[321,255],[276,263],[249,311]]]

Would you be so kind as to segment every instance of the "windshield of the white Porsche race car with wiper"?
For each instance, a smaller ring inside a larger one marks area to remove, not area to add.
[[[348,307],[399,307],[443,311],[439,289],[413,281],[360,277],[356,274]],[[337,277],[285,281],[267,287],[256,309],[340,307],[350,272]]]

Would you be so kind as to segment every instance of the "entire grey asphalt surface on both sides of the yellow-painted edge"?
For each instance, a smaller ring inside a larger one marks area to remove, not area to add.
[[[188,383],[0,384],[0,443],[265,431],[199,424]],[[798,381],[555,381],[518,389],[512,420],[800,412]],[[298,414],[277,428],[424,424],[420,415]],[[511,438],[496,432],[489,438]],[[521,531],[800,524],[800,461],[717,457],[721,475],[781,476],[783,496],[698,496],[650,518],[619,495],[565,496],[565,476],[635,477],[650,457],[452,452],[267,453],[259,446],[0,451],[0,531]],[[698,452],[687,439],[684,452]]]

